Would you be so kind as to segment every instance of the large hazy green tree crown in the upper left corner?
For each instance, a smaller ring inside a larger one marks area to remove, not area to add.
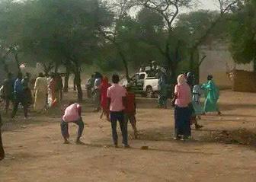
[[[75,56],[90,63],[98,49],[95,27],[109,24],[105,12],[94,0],[3,2],[2,42],[54,62]]]

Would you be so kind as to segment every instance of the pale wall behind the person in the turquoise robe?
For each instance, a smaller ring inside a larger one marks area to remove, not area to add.
[[[238,65],[232,59],[228,43],[213,43],[210,46],[201,46],[200,56],[206,59],[200,65],[200,83],[206,81],[207,75],[213,75],[219,88],[232,88],[232,81],[227,72],[232,69],[254,71],[254,64]]]

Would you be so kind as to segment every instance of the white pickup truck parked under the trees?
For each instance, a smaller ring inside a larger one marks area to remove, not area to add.
[[[127,85],[128,81],[122,81],[122,85]],[[132,91],[141,94],[143,97],[154,97],[158,93],[158,78],[149,76],[146,72],[139,72],[131,78],[133,84]]]

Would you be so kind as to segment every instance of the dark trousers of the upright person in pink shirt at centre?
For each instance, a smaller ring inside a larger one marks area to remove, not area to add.
[[[120,129],[123,136],[123,145],[128,145],[127,123],[124,120],[123,111],[119,111],[119,112],[110,111],[110,121],[111,121],[111,127],[112,127],[113,142],[115,145],[117,145],[117,139],[118,139],[117,120],[119,121]]]

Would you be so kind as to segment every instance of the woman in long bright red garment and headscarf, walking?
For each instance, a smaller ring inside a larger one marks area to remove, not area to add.
[[[107,88],[109,88],[111,85],[108,82],[108,79],[106,76],[103,77],[101,81],[101,119],[103,115],[107,117],[107,120],[109,121],[109,110],[107,110]]]

